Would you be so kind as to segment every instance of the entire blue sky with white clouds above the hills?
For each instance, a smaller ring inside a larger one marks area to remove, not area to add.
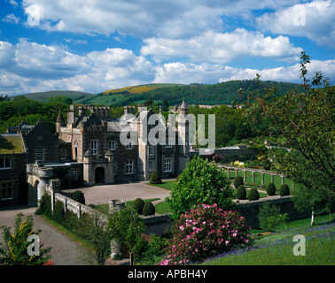
[[[335,80],[332,0],[2,0],[0,94]]]

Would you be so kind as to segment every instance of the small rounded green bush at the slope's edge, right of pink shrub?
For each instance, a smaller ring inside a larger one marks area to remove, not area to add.
[[[286,224],[288,221],[287,213],[280,214],[280,208],[276,205],[264,203],[258,214],[260,226],[263,231],[273,232],[276,227],[281,224]]]

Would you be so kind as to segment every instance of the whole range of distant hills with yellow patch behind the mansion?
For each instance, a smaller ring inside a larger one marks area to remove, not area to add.
[[[293,89],[302,90],[299,84],[277,82],[272,80],[261,81],[261,85],[254,80],[230,80],[211,85],[194,83],[191,85],[157,83],[116,88],[105,90],[97,95],[80,91],[48,91],[25,95],[27,98],[46,102],[51,96],[70,97],[75,104],[96,104],[108,106],[122,106],[128,104],[144,103],[149,97],[156,103],[164,100],[170,105],[181,103],[183,98],[187,103],[198,104],[231,104],[242,102],[248,97],[249,92],[266,88],[276,88],[276,96],[284,96]],[[12,99],[13,96],[11,96]]]

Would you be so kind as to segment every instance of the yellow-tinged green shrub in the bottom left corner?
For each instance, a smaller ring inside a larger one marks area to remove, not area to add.
[[[1,265],[42,265],[51,258],[49,256],[51,248],[43,249],[42,244],[39,246],[38,255],[28,255],[27,249],[29,245],[33,244],[33,242],[27,241],[28,236],[38,235],[42,231],[33,230],[34,221],[32,216],[28,216],[23,222],[22,217],[23,213],[16,215],[14,233],[11,233],[10,227],[0,226],[4,236],[4,244],[0,243]]]

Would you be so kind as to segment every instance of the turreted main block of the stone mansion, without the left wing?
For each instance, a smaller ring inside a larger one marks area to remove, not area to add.
[[[187,115],[185,103],[182,103],[180,113]],[[181,120],[175,128],[165,123],[160,114],[141,106],[137,112],[134,106],[125,106],[121,119],[112,119],[109,115],[109,107],[93,106],[80,106],[78,115],[75,115],[74,105],[71,105],[65,121],[59,112],[58,138],[68,145],[72,159],[83,163],[86,184],[149,180],[154,170],[160,172],[161,178],[171,178],[183,171],[189,147],[178,144],[178,134],[184,135],[183,141],[187,139],[186,121]],[[164,123],[165,144],[147,142],[150,130],[157,126],[157,123],[148,125],[152,115],[157,115],[158,123]],[[136,136],[136,140],[121,142],[125,130],[130,136]],[[170,141],[171,133],[174,142]]]

